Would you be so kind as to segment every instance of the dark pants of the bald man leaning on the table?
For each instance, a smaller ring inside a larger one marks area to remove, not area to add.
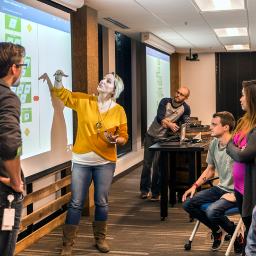
[[[156,138],[148,133],[144,139],[144,159],[140,178],[140,191],[149,192],[152,195],[160,195],[160,151],[149,151],[149,147],[157,143]],[[151,183],[151,166],[153,163],[153,174]]]

